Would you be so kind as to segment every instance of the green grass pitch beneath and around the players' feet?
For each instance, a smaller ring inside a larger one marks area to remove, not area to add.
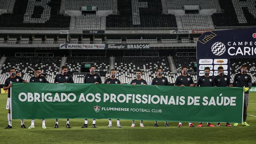
[[[131,128],[131,120],[121,120],[122,128],[116,128],[116,120],[112,120],[112,128],[106,128],[108,119],[96,120],[98,128],[92,128],[89,119],[88,128],[80,128],[83,119],[70,119],[72,128],[66,128],[66,120],[59,120],[59,128],[53,128],[54,119],[46,119],[46,129],[42,129],[42,121],[35,120],[34,129],[20,128],[20,120],[13,120],[12,129],[4,129],[8,124],[6,107],[7,94],[0,94],[0,143],[1,144],[28,144],[28,143],[104,143],[104,144],[255,144],[256,143],[256,93],[250,93],[247,123],[249,127],[239,124],[236,127],[189,128],[187,122],[182,123],[182,128],[177,128],[178,122],[169,122],[170,127],[164,127],[164,122],[158,122],[154,128],[154,121],[144,121],[144,128]],[[25,120],[29,127],[31,120]],[[194,123],[195,126],[198,123]],[[214,123],[216,125],[216,123]],[[232,123],[233,125],[233,123]]]

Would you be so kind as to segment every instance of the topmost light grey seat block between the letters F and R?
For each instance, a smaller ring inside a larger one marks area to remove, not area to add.
[[[200,9],[214,9],[214,0],[166,0],[170,10],[183,10],[184,5],[199,5]]]

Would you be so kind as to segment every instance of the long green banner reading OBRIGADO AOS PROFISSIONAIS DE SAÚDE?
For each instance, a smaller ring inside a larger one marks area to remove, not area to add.
[[[242,88],[13,83],[12,118],[242,122]]]

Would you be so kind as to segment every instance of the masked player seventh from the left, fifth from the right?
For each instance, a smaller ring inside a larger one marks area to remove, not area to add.
[[[163,74],[163,69],[162,69],[162,68],[157,68],[157,69],[156,69],[156,72],[157,72],[157,76],[156,76],[155,78],[153,78],[151,85],[155,85],[155,86],[158,86],[158,85],[160,85],[160,86],[167,86],[167,85],[168,85],[168,80],[167,80],[166,77],[162,76],[162,74]],[[165,125],[166,127],[169,127],[167,121],[164,122],[164,125]],[[154,127],[158,127],[158,122],[157,122],[157,121],[155,121]]]

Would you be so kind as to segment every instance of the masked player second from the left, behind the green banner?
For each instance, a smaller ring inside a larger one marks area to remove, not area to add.
[[[30,78],[29,82],[43,82],[43,83],[49,83],[45,77],[41,76],[41,70],[39,68],[36,68],[34,70],[34,76]],[[35,128],[34,126],[35,119],[31,119],[31,125],[28,129]],[[45,126],[45,119],[42,119],[42,128],[46,128]]]

